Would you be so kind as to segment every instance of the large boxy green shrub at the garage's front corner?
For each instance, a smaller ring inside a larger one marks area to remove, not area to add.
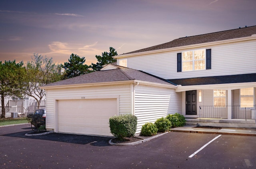
[[[132,114],[109,118],[110,132],[120,140],[134,136],[137,129],[137,117]]]

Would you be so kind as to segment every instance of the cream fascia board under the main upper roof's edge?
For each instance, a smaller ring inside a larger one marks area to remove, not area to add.
[[[119,58],[123,58],[123,57],[147,55],[147,54],[162,53],[162,52],[169,52],[169,51],[186,50],[186,49],[197,48],[197,47],[207,47],[207,46],[212,46],[212,45],[221,45],[221,44],[226,44],[226,43],[249,41],[249,40],[255,40],[255,39],[256,39],[256,35],[251,35],[251,36],[247,36],[247,37],[239,37],[239,38],[226,39],[226,40],[221,40],[221,41],[212,41],[212,42],[207,42],[207,43],[197,43],[197,44],[193,44],[193,45],[171,47],[171,48],[166,48],[166,49],[158,49],[158,50],[154,50],[154,51],[145,51],[145,52],[124,54],[124,55],[116,55],[116,56],[113,56],[113,58],[119,59]]]

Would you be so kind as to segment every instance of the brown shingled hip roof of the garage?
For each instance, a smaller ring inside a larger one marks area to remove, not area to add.
[[[164,85],[172,85],[168,81],[144,73],[142,71],[137,71],[134,69],[129,69],[127,67],[122,67],[118,65],[113,65],[116,69],[96,71],[88,74],[84,74],[78,77],[73,77],[70,79],[65,79],[63,81],[58,81],[55,83],[50,83],[45,86],[62,86],[62,85],[77,85],[77,84],[89,84],[89,83],[104,83],[104,82],[114,82],[114,81],[129,81],[129,80],[139,80],[151,83],[159,83]],[[174,86],[174,85],[173,85]]]

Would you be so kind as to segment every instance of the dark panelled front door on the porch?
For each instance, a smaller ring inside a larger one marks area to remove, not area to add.
[[[196,90],[186,91],[186,115],[196,115]]]

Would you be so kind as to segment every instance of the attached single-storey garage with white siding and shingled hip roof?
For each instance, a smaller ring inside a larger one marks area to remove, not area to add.
[[[112,136],[110,116],[136,115],[136,134],[140,134],[146,122],[173,113],[170,112],[170,96],[176,86],[141,71],[109,64],[101,71],[42,88],[46,89],[47,130]]]

